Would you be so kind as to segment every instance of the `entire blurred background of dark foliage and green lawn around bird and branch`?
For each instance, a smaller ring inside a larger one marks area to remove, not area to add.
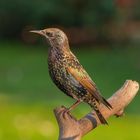
[[[29,33],[58,27],[72,51],[108,98],[126,79],[140,81],[139,0],[1,0],[0,1],[0,140],[54,140],[57,106],[74,100],[52,83],[48,45]],[[139,140],[140,96],[125,116],[111,117],[85,140]],[[80,118],[91,109],[81,104]]]

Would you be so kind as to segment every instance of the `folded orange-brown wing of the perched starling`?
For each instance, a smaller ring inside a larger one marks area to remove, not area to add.
[[[79,83],[87,89],[87,91],[97,99],[97,101],[102,101],[102,96],[100,95],[95,83],[91,80],[87,72],[80,68],[75,69],[68,67],[67,71],[77,80]]]

